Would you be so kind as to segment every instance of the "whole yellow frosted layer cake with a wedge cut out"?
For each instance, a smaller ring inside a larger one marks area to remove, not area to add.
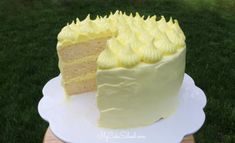
[[[150,125],[177,109],[186,55],[177,20],[88,15],[61,30],[57,52],[66,94],[96,91],[100,127]]]

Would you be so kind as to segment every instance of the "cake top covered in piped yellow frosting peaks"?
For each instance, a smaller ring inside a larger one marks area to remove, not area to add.
[[[100,53],[99,69],[115,67],[130,68],[139,63],[156,63],[164,56],[172,55],[185,48],[185,36],[178,21],[164,16],[126,15],[116,11],[108,17],[88,15],[65,26],[58,35],[57,48],[65,48],[92,39],[109,38]]]

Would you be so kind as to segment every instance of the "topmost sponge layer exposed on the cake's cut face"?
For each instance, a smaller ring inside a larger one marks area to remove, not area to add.
[[[86,56],[97,55],[97,53],[104,50],[106,41],[107,38],[103,38],[68,47],[58,47],[57,52],[59,55],[59,60],[61,62],[69,63]]]

